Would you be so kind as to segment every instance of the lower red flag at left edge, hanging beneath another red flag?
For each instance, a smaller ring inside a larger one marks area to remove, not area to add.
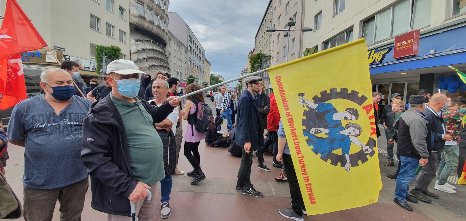
[[[6,110],[27,99],[20,54],[0,60],[0,110]]]

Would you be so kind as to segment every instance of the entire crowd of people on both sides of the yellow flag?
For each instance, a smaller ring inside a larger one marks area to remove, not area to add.
[[[288,181],[291,195],[291,208],[280,209],[279,213],[296,221],[307,214],[277,102],[274,94],[264,92],[260,76],[245,79],[247,89],[239,99],[225,86],[210,92],[216,111],[215,117],[212,114],[209,118],[212,125],[207,131],[198,128],[202,115],[210,113],[204,105],[204,92],[180,99],[183,91],[176,77],[162,72],[151,76],[134,62],[119,59],[106,67],[104,84],[91,80],[85,90],[81,80],[78,65],[72,61],[42,71],[43,94],[14,107],[7,133],[1,127],[0,151],[6,147],[7,138],[25,147],[25,220],[51,220],[57,200],[62,220],[80,220],[89,175],[91,206],[108,214],[109,221],[127,220],[128,216],[153,220],[158,206],[146,197],[148,191],[156,194],[158,182],[160,215],[169,217],[172,175],[185,174],[178,169],[183,140],[183,155],[193,169],[187,172],[192,185],[206,179],[199,154],[202,140],[210,147],[228,147],[232,155],[241,158],[235,190],[255,197],[263,194],[251,183],[253,155],[258,169],[270,172],[263,156],[270,154],[272,166],[281,168],[275,180]],[[185,93],[200,89],[192,83]],[[431,97],[421,90],[405,106],[402,95],[395,93],[391,103],[377,111],[382,94],[374,92],[372,97],[375,119],[381,116],[377,123],[384,127],[387,139],[384,166],[396,164],[393,149],[397,143],[398,168],[387,174],[396,179],[394,201],[412,210],[406,201],[431,202],[430,198],[438,198],[427,188],[437,170],[434,188],[456,193],[446,179],[455,169],[460,175],[461,162],[465,161],[466,138],[461,137],[466,137],[466,129],[461,122],[466,98],[451,99],[443,94]],[[188,123],[184,134],[183,120]],[[224,122],[228,133],[221,131]],[[0,155],[0,171],[6,173],[3,166],[7,155]],[[410,190],[408,183],[414,180],[418,166],[422,169]],[[135,205],[135,214],[131,214],[130,202]]]

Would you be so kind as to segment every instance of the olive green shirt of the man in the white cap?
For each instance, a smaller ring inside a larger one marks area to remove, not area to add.
[[[136,103],[123,101],[111,93],[110,99],[123,119],[134,178],[152,186],[165,178],[164,147],[152,116],[136,97]]]

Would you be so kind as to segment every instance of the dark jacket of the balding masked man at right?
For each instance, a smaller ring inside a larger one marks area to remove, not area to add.
[[[445,140],[442,140],[443,134],[446,134],[445,125],[443,123],[443,117],[442,115],[435,113],[435,111],[432,110],[432,108],[429,107],[427,104],[425,105],[424,114],[425,119],[427,119],[427,121],[431,125],[432,151],[441,152],[443,151],[443,146],[445,145]]]

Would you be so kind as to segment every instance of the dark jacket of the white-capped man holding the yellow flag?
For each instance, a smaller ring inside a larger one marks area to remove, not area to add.
[[[139,98],[140,99],[140,98]],[[160,107],[142,101],[159,123],[173,110],[166,103]],[[124,124],[110,96],[94,103],[82,125],[81,160],[90,174],[92,208],[108,214],[130,216],[128,197],[137,185],[131,172]]]

